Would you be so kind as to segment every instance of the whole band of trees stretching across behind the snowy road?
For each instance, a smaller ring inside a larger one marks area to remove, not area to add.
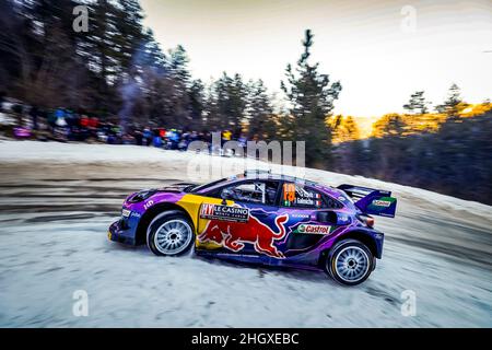
[[[75,31],[84,5],[87,31]],[[51,113],[130,126],[231,130],[256,140],[306,141],[306,164],[492,203],[492,105],[468,104],[450,84],[431,108],[424,91],[361,138],[355,118],[333,115],[342,82],[312,62],[306,30],[300,58],[279,82],[279,107],[261,80],[223,72],[195,79],[185,47],[162,48],[138,0],[0,2],[0,95]],[[301,33],[300,33],[301,38]],[[279,62],[283,63],[283,62]]]

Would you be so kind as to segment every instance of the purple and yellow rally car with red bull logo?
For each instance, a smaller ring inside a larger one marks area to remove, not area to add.
[[[242,262],[324,270],[363,282],[382,257],[372,214],[395,217],[389,191],[337,188],[267,172],[206,185],[176,184],[130,195],[109,240],[145,244],[156,255],[195,252]]]

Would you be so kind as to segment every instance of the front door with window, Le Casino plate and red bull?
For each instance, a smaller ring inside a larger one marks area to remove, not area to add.
[[[200,248],[282,258],[276,241],[286,234],[288,217],[278,215],[279,182],[245,179],[211,194],[221,205],[203,203],[198,235]]]

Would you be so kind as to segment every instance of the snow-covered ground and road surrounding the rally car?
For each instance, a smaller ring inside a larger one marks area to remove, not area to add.
[[[107,241],[130,191],[244,166],[266,165],[131,145],[0,142],[0,326],[492,326],[492,207],[418,188],[301,170],[398,197],[397,218],[376,220],[383,259],[355,288],[324,273],[159,258]],[[89,294],[86,317],[72,313],[77,290]],[[401,314],[406,290],[415,293],[415,316]]]

